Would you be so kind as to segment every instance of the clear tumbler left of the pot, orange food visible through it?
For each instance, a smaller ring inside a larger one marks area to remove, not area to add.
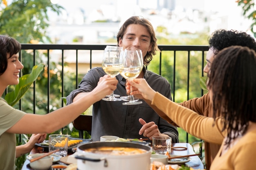
[[[56,155],[67,156],[67,135],[49,135],[49,152],[59,149],[58,152],[55,152]]]

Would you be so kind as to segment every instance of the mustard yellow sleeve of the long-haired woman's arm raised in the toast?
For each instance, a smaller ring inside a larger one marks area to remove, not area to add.
[[[165,115],[159,115],[168,122],[174,121],[189,134],[198,137],[204,141],[222,144],[225,137],[225,132],[221,132],[221,119],[214,119],[198,115],[193,110],[185,108],[167,99],[160,93],[156,93],[152,102]],[[215,126],[213,126],[215,123]]]

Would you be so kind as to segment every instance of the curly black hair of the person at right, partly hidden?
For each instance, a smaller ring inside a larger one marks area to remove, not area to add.
[[[209,37],[209,48],[213,49],[213,53],[217,54],[220,50],[229,46],[247,46],[249,49],[256,51],[255,39],[241,31],[218,29]]]

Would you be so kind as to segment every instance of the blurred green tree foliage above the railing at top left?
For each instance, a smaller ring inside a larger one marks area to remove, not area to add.
[[[5,6],[4,2],[8,2]],[[46,36],[48,11],[60,13],[63,7],[50,0],[0,0],[0,34],[16,38],[20,43],[36,40],[50,42]]]

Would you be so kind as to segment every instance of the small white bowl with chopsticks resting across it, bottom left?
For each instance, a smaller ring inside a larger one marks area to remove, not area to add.
[[[36,153],[36,154],[27,155],[27,159],[30,161],[31,159],[40,157],[42,155],[44,155],[44,153]],[[38,159],[34,162],[30,162],[29,165],[34,170],[47,170],[52,166],[52,157],[50,155],[48,155],[48,156]]]

